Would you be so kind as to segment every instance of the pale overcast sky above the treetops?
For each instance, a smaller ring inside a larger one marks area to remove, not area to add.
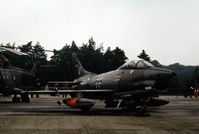
[[[129,59],[199,65],[198,0],[0,0],[0,43],[61,49],[93,36]]]

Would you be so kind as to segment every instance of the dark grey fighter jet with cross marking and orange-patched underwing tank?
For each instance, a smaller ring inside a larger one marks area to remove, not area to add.
[[[127,61],[116,70],[95,74],[83,68],[76,54],[72,54],[72,59],[78,78],[69,82],[71,87],[68,90],[44,91],[70,95],[70,98],[63,99],[63,103],[72,108],[86,111],[94,106],[94,100],[103,100],[107,108],[121,107],[143,112],[147,106],[168,103],[154,99],[158,92],[154,85],[156,80],[175,75],[171,70],[157,68],[139,59]]]

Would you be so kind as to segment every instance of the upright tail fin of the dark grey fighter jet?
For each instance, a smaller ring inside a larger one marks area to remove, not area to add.
[[[79,61],[75,53],[72,53],[72,66],[77,77],[81,77],[90,73],[83,68],[81,62]]]

